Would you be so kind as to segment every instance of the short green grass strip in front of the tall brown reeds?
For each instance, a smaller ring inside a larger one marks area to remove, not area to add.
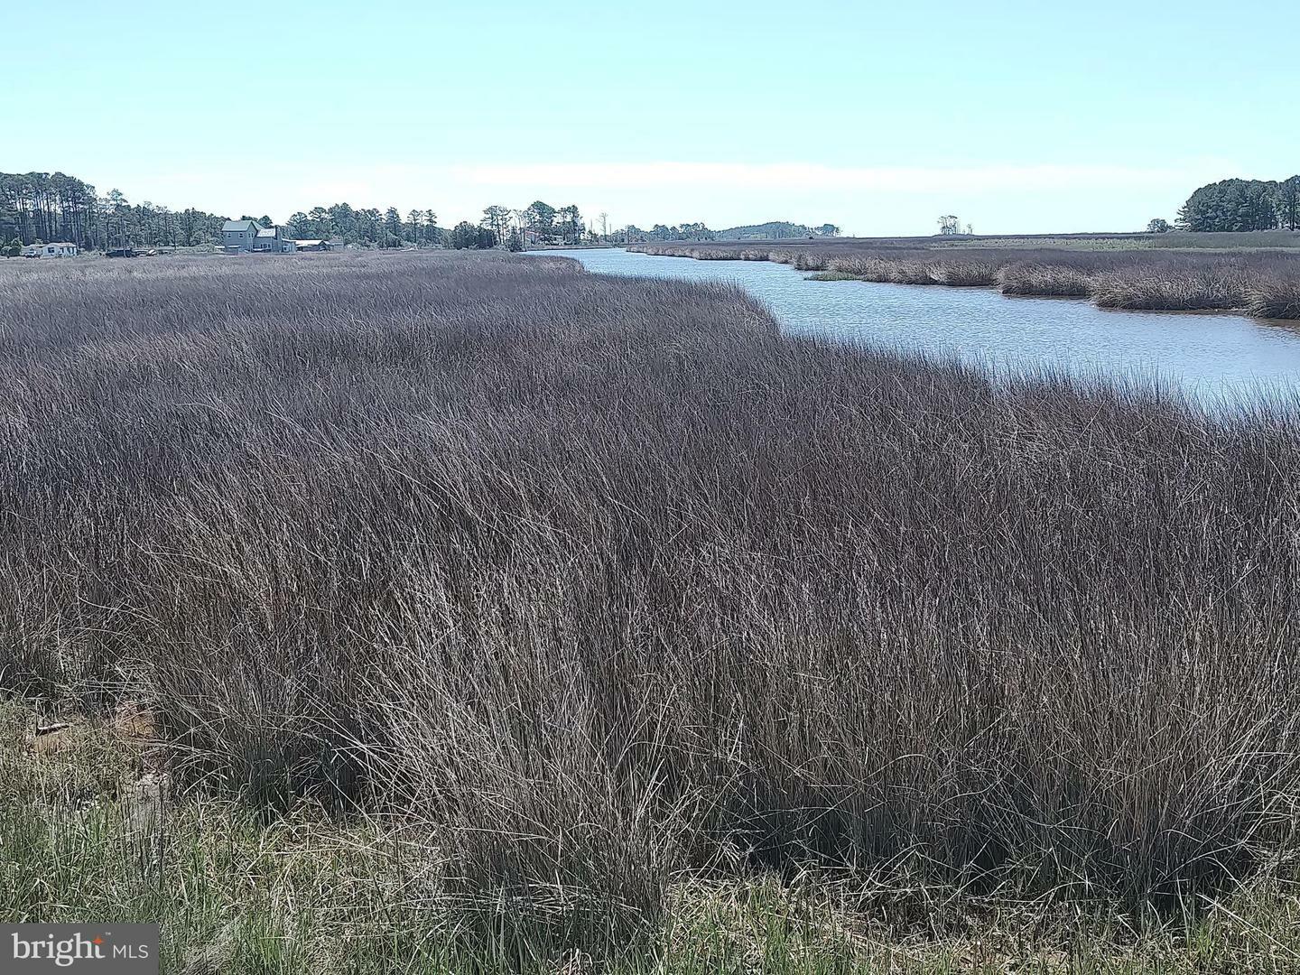
[[[400,822],[311,803],[268,818],[177,788],[169,749],[121,710],[66,716],[32,738],[34,708],[0,701],[0,913],[159,923],[165,972],[1190,974],[1291,971],[1300,956],[1300,898],[1274,880],[1135,931],[1104,910],[740,868],[676,879],[653,924],[604,945],[521,937],[503,915],[467,926]]]

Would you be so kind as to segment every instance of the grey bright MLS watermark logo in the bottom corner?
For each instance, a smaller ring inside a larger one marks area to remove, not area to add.
[[[157,975],[157,924],[4,924],[0,975]]]

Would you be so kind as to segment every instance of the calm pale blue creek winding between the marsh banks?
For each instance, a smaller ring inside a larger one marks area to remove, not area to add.
[[[809,281],[767,261],[697,261],[623,250],[549,251],[602,274],[731,281],[797,335],[956,355],[1010,368],[1160,381],[1202,402],[1300,390],[1300,322],[1240,315],[1106,311],[988,289]]]

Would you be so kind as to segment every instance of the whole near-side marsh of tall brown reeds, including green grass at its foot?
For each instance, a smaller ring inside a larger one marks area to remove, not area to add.
[[[6,914],[268,971],[1294,958],[1292,412],[551,257],[0,289]]]

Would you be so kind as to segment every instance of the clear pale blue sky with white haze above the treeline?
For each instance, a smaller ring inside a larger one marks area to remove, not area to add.
[[[6,6],[0,169],[234,216],[1128,230],[1300,170],[1291,0]]]

